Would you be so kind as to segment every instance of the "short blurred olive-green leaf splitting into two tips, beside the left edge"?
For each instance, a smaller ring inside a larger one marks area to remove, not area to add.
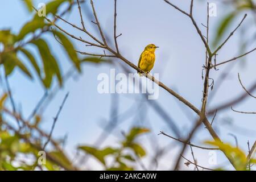
[[[5,75],[10,75],[14,68],[19,67],[28,77],[32,78],[26,66],[18,59],[15,53],[5,53],[2,55],[3,65],[5,67]]]

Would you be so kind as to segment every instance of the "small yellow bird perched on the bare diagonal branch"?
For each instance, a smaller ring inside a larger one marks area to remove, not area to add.
[[[154,44],[149,44],[145,47],[144,51],[141,53],[139,57],[138,67],[142,69],[142,71],[149,73],[155,64],[155,49],[159,48]],[[141,73],[139,76],[141,76]]]

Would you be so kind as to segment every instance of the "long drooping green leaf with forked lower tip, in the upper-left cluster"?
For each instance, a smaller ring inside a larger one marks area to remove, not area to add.
[[[46,86],[46,88],[49,88],[52,83],[52,78],[55,75],[59,80],[59,84],[62,85],[59,65],[57,64],[55,57],[51,54],[48,44],[43,39],[34,40],[32,43],[36,45],[42,57],[44,65],[44,86]]]

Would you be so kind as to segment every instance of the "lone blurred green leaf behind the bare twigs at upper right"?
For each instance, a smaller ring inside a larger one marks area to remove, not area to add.
[[[228,27],[232,23],[232,20],[236,17],[236,12],[230,13],[226,15],[224,19],[222,19],[222,22],[219,24],[217,28],[217,33],[214,38],[213,46],[216,47],[217,44],[220,42],[221,38],[224,36],[225,31],[228,30]]]

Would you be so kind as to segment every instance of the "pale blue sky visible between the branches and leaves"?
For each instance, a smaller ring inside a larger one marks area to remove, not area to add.
[[[35,1],[35,5],[40,2],[48,1]],[[189,9],[189,1],[173,1],[179,5],[181,9]],[[216,26],[218,22],[227,13],[232,11],[230,7],[222,5],[218,1],[209,1],[217,4],[217,17],[210,18],[210,40],[214,37]],[[89,4],[87,3],[87,6]],[[114,1],[95,1],[96,10],[100,19],[102,28],[105,33],[113,37],[113,6]],[[152,73],[159,73],[160,81],[167,86],[170,86],[181,96],[187,98],[192,104],[200,108],[201,97],[203,89],[203,81],[201,80],[201,69],[205,60],[205,48],[197,35],[195,28],[183,14],[168,6],[163,1],[156,0],[118,0],[118,17],[117,17],[117,31],[122,36],[118,38],[119,49],[121,53],[131,62],[137,64],[139,55],[144,47],[149,43],[154,43],[160,48],[156,51],[156,63]],[[195,1],[194,6],[195,19],[200,23],[206,22],[207,6],[203,1]],[[82,9],[85,10],[85,9]],[[242,18],[243,15],[241,15]],[[72,13],[65,16],[70,22],[80,25],[80,19],[77,9],[73,9]],[[11,28],[13,32],[18,32],[19,29],[31,19],[31,14],[26,11],[22,2],[19,0],[3,1],[1,2],[0,12],[0,28]],[[252,15],[249,13],[248,18],[245,20],[245,25],[251,22]],[[240,22],[237,19],[233,27]],[[65,30],[83,36],[80,32],[75,31],[72,27],[68,27],[63,23],[59,23]],[[87,20],[85,22],[89,30],[97,35],[94,24]],[[205,34],[203,26],[200,26]],[[219,52],[218,60],[230,59],[238,55],[239,32],[230,39],[225,47]],[[64,54],[63,50],[52,36],[46,36],[48,42],[51,44],[52,52],[59,57],[62,72],[65,73],[71,64]],[[92,51],[90,47],[85,47],[79,42],[75,42],[76,48],[82,51]],[[255,47],[255,43],[251,47]],[[248,47],[249,49],[250,47]],[[93,50],[94,51],[94,50]],[[36,52],[35,52],[36,53]],[[243,83],[250,86],[254,82],[254,68],[256,63],[254,61],[255,53],[251,53],[246,57],[246,63],[236,63],[234,68],[230,71],[228,79],[223,82],[218,89],[213,100],[209,104],[209,108],[216,107],[224,101],[228,101],[243,93],[241,85],[238,82],[237,73],[241,74]],[[114,60],[117,64],[121,63],[120,60]],[[240,60],[241,61],[241,60]],[[224,71],[231,69],[234,63],[221,66],[218,71],[212,71],[210,77],[214,78],[215,84],[220,82],[218,76]],[[56,97],[47,107],[43,114],[42,127],[49,131],[52,125],[52,117],[57,113],[59,105],[61,104],[65,94],[69,92],[68,100],[60,114],[53,132],[54,137],[63,137],[68,134],[67,150],[70,154],[75,154],[75,148],[78,144],[93,144],[97,136],[102,131],[102,126],[109,119],[111,107],[111,94],[99,94],[97,92],[98,80],[97,76],[100,73],[109,74],[110,68],[117,68],[113,65],[94,65],[85,64],[83,66],[82,75],[75,74],[76,76],[66,82],[64,87],[56,94]],[[117,68],[118,69],[118,68]],[[118,69],[122,72],[122,69]],[[31,110],[35,107],[40,97],[44,94],[44,89],[37,80],[31,81],[23,76],[19,71],[15,71],[10,78],[11,88],[14,92],[14,98],[17,105],[22,106],[24,115],[30,114]],[[213,90],[214,92],[214,90]],[[210,92],[211,94],[212,92]],[[256,93],[254,93],[256,94]],[[116,145],[118,140],[122,137],[121,131],[128,131],[131,126],[139,125],[150,127],[151,134],[147,137],[141,137],[139,142],[143,143],[147,148],[147,153],[152,156],[150,140],[157,140],[159,146],[167,146],[171,142],[175,143],[169,138],[158,136],[159,131],[165,131],[170,135],[174,135],[168,126],[162,121],[155,111],[148,106],[148,102],[141,102],[142,97],[138,94],[120,94],[119,98],[119,113],[123,113],[130,107],[130,117],[122,122],[113,134],[106,140],[103,146]],[[157,102],[164,107],[164,109],[174,119],[176,125],[181,131],[181,135],[186,137],[189,129],[195,122],[196,115],[189,110],[186,106],[180,104],[173,96],[160,88],[159,99]],[[138,104],[141,103],[141,104]],[[256,101],[253,98],[248,98],[240,105],[234,107],[237,110],[255,111],[254,108]],[[141,114],[137,114],[137,111]],[[142,115],[143,117],[141,117]],[[234,125],[240,126],[245,130],[237,130],[236,127],[225,125],[226,119],[231,119]],[[247,150],[247,140],[251,143],[255,140],[255,115],[243,115],[234,113],[230,109],[221,111],[214,121],[214,128],[217,133],[224,140],[235,144],[234,138],[229,133],[235,134],[238,138],[238,143],[243,150]],[[254,132],[254,133],[253,133]],[[148,137],[149,136],[149,137]],[[154,139],[152,139],[154,138]],[[149,140],[150,139],[150,140]],[[204,140],[211,139],[208,132],[202,126],[200,132],[196,134],[193,143],[202,144]],[[155,147],[159,147],[155,146]],[[164,160],[160,161],[159,169],[170,169],[174,163],[174,158],[179,152],[179,146],[170,149],[164,156]],[[195,156],[200,165],[206,167],[211,166],[208,163],[209,151],[197,150],[195,148]],[[191,158],[190,151],[187,151],[187,156]],[[217,152],[218,164],[225,163],[224,156]],[[143,160],[148,163],[148,158]],[[92,168],[99,169],[93,160],[89,161]],[[184,169],[187,169],[184,167]],[[191,168],[192,169],[192,168]]]

